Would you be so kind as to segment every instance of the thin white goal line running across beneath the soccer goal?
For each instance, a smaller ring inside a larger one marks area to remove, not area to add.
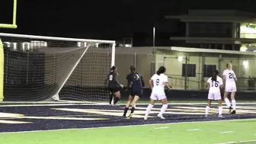
[[[11,103],[11,102],[10,102]],[[84,103],[56,103],[56,102],[53,102],[53,103],[49,103],[49,104],[46,104],[45,102],[44,103],[24,103],[24,104],[14,104],[13,105],[5,105],[3,104],[3,102],[0,102],[0,107],[46,107],[46,106],[76,106],[76,105],[88,105],[88,106],[98,106],[98,105],[109,105],[109,104],[105,104],[105,103],[97,103],[97,104],[84,104]],[[8,104],[8,103],[6,103]],[[169,105],[200,105],[200,104],[207,104],[206,102],[205,103],[171,103]],[[236,103],[236,104],[256,104],[256,103]],[[117,104],[117,105],[120,105],[120,106],[124,106],[126,104]],[[136,104],[136,105],[147,105],[147,104]],[[162,104],[155,104],[155,105],[162,105]],[[212,105],[216,105],[216,104],[212,104]]]

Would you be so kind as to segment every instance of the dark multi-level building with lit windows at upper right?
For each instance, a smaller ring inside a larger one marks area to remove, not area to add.
[[[256,14],[233,10],[191,10],[188,14],[167,15],[186,23],[184,40],[201,48],[219,50],[256,50]]]

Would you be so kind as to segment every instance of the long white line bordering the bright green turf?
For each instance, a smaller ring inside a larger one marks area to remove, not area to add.
[[[212,120],[212,121],[194,121],[194,122],[181,122],[181,123],[153,123],[153,124],[142,124],[142,125],[129,125],[129,126],[103,126],[103,127],[91,127],[91,128],[74,128],[74,129],[58,129],[58,130],[33,130],[33,131],[22,131],[22,132],[4,132],[0,133],[38,133],[45,131],[63,131],[63,130],[95,130],[95,129],[110,129],[110,128],[123,128],[123,127],[136,127],[136,126],[161,126],[161,125],[177,125],[177,124],[185,124],[185,123],[219,123],[226,121],[247,121],[247,120],[256,120],[256,118],[251,119],[240,119],[240,120]]]

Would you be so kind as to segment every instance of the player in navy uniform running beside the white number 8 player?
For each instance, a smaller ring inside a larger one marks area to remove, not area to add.
[[[126,103],[126,107],[124,108],[123,117],[126,117],[126,113],[132,103],[132,109],[130,115],[126,117],[130,119],[133,117],[133,112],[136,107],[136,102],[139,101],[139,98],[142,97],[143,94],[143,87],[145,86],[142,75],[136,72],[135,66],[130,66],[130,73],[126,76],[127,79],[127,88],[131,85],[131,91],[129,99]]]

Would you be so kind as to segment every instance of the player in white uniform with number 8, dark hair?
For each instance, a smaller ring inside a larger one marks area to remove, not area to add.
[[[162,116],[162,114],[165,113],[165,110],[168,107],[167,98],[165,95],[165,87],[171,89],[171,87],[168,86],[168,77],[165,75],[165,70],[165,67],[161,66],[156,74],[153,75],[149,80],[149,85],[152,93],[150,96],[150,104],[146,108],[144,120],[148,119],[150,110],[152,109],[152,107],[154,107],[155,101],[161,101],[162,108],[160,110],[160,113],[158,114],[158,117],[160,117],[161,119],[165,119],[165,117]]]

